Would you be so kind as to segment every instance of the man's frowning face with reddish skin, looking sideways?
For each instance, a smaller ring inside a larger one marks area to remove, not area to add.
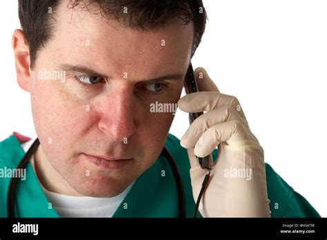
[[[176,20],[142,32],[70,10],[66,3],[57,15],[54,37],[39,51],[30,77],[37,136],[72,188],[112,197],[159,157],[173,115],[150,112],[150,103],[177,103],[190,61],[192,24]],[[50,71],[59,70],[66,70],[66,81],[40,79],[41,74],[53,79]],[[148,81],[171,74],[179,77]],[[129,160],[114,164],[89,155]]]

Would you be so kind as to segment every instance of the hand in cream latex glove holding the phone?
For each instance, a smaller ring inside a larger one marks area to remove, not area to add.
[[[181,146],[188,149],[195,202],[208,173],[197,157],[206,157],[219,145],[208,188],[201,199],[201,215],[270,217],[264,150],[250,131],[239,101],[221,94],[203,68],[195,70],[195,78],[201,92],[187,94],[178,101],[184,112],[206,112],[181,138]]]

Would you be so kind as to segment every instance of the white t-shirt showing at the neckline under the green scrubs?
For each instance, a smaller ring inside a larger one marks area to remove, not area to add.
[[[32,139],[21,144],[25,152],[32,146],[34,141],[35,139]],[[121,194],[108,198],[68,196],[50,192],[45,188],[43,188],[43,191],[60,217],[112,217],[134,183],[135,181]]]

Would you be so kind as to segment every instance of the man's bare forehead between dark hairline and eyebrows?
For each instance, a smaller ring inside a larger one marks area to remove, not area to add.
[[[92,66],[103,72],[150,71],[186,68],[190,60],[193,26],[175,19],[155,30],[135,30],[108,21],[101,14],[61,3],[54,38],[48,48],[62,63]]]

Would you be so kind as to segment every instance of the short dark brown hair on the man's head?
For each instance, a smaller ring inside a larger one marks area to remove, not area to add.
[[[37,52],[54,33],[57,8],[61,0],[19,0],[19,21],[30,48],[30,67]],[[193,23],[194,39],[191,56],[201,42],[206,28],[206,10],[202,0],[70,0],[68,8],[76,7],[108,19],[121,21],[128,28],[151,30],[160,28],[170,19]],[[97,8],[97,7],[98,8]],[[96,10],[95,10],[96,9]],[[93,11],[95,10],[95,11]],[[128,14],[124,13],[128,11]]]

